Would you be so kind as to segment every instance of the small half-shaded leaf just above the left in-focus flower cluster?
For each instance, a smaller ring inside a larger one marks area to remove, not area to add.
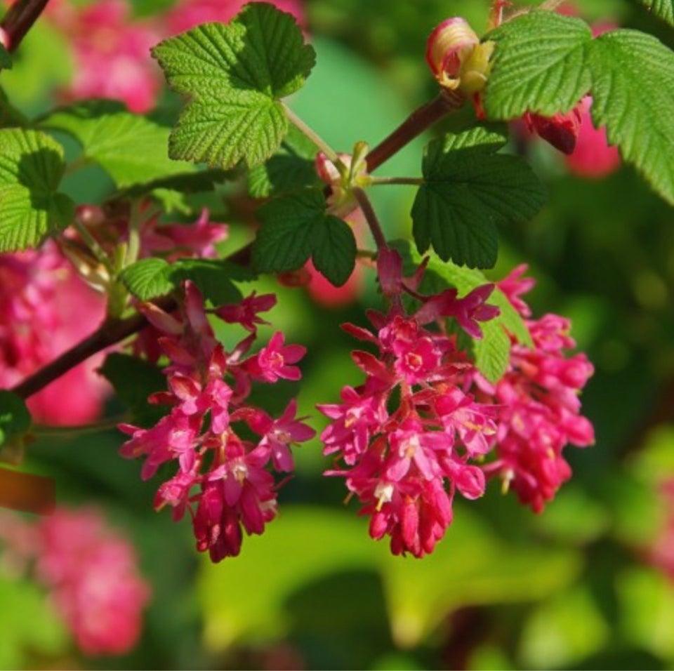
[[[242,294],[232,282],[249,281],[253,274],[223,259],[179,259],[169,263],[152,257],[126,267],[119,279],[140,300],[159,298],[189,279],[197,285],[205,300],[213,305],[235,303]]]

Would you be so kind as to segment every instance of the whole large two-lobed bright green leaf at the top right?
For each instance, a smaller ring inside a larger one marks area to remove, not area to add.
[[[672,2],[650,3],[669,20]],[[590,93],[596,126],[623,159],[674,204],[674,53],[653,36],[616,30],[592,38],[576,18],[531,11],[489,33],[496,41],[484,96],[491,119],[567,112]]]

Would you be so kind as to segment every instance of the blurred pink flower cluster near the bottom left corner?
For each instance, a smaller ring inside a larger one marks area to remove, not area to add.
[[[150,587],[138,572],[133,545],[112,531],[98,510],[58,508],[37,524],[9,514],[1,521],[5,554],[20,557],[23,569],[34,566],[34,578],[48,588],[81,651],[109,655],[133,649]]]

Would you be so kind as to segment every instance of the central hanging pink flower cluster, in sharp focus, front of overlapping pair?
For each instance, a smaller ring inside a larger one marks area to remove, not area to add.
[[[380,253],[384,293],[395,296],[401,270],[395,251]],[[484,491],[484,474],[473,462],[493,445],[496,413],[463,388],[471,366],[456,338],[423,324],[451,314],[468,332],[479,332],[477,321],[497,314],[485,305],[493,288],[464,298],[445,292],[414,315],[404,312],[398,293],[388,314],[369,313],[374,332],[343,326],[377,354],[353,352],[365,382],[345,387],[341,404],[319,406],[332,420],[321,436],[324,453],[344,464],[328,473],[345,477],[362,514],[371,516],[370,535],[390,536],[394,554],[432,552],[451,524],[454,493],[472,499]]]

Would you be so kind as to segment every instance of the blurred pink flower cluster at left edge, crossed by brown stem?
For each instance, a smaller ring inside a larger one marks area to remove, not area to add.
[[[53,241],[0,255],[0,387],[12,387],[53,361],[95,331],[104,316],[103,296],[85,284]],[[101,360],[92,357],[34,394],[28,400],[34,419],[55,425],[95,420],[108,391],[95,373]]]

